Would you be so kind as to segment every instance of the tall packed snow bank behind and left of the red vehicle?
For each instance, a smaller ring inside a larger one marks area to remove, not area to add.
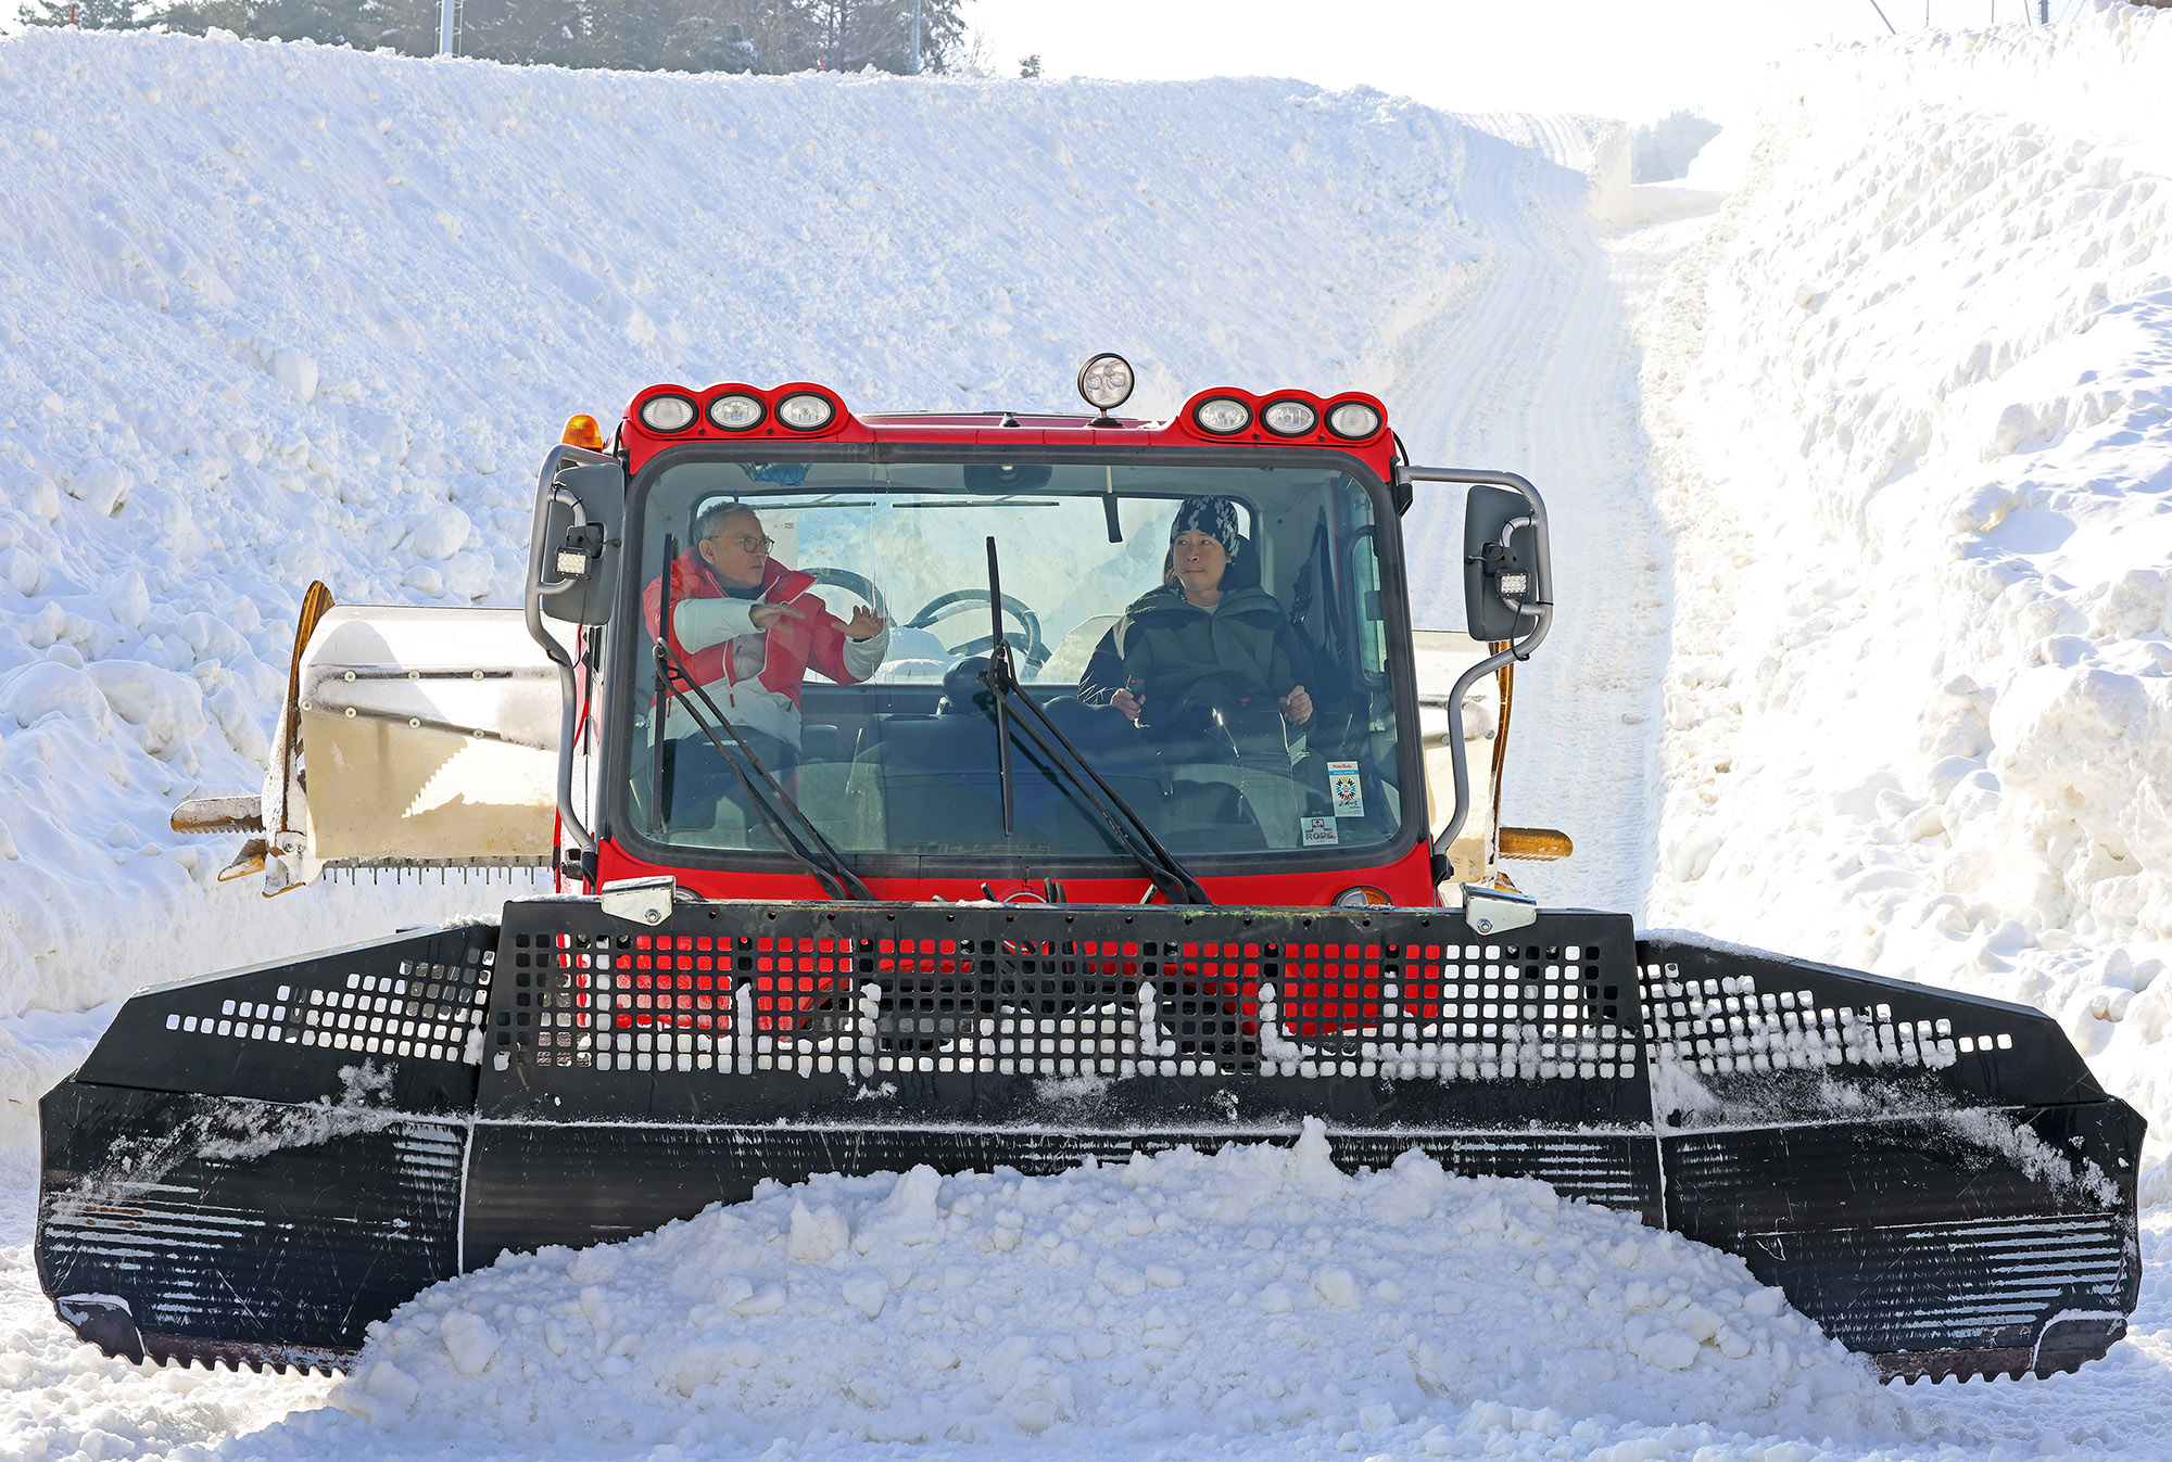
[[[463,907],[263,918],[213,883],[232,839],[165,818],[261,781],[311,579],[510,603],[569,414],[734,377],[1073,408],[1110,347],[1145,414],[1218,382],[1392,393],[1483,258],[1466,137],[1277,80],[0,41],[0,1013]]]

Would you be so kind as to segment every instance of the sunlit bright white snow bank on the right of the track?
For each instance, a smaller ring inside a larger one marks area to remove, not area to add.
[[[1807,56],[1649,315],[1651,922],[2020,1000],[2172,1134],[2172,15]]]

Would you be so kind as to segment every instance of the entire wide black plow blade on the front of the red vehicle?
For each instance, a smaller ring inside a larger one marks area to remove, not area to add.
[[[46,1095],[37,1262],[109,1354],[341,1364],[765,1178],[1308,1117],[1731,1249],[1885,1375],[2072,1369],[2139,1295],[2142,1119],[2048,1017],[1581,911],[515,900],[130,1000]]]

